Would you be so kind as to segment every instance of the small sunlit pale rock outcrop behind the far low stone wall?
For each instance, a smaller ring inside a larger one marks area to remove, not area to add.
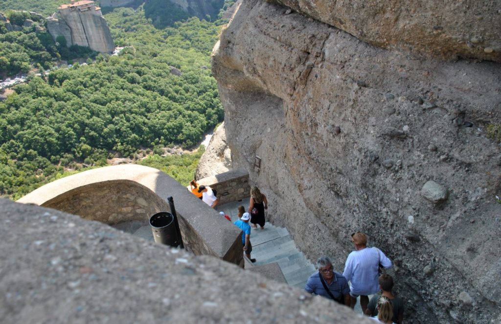
[[[231,150],[226,143],[224,123],[214,131],[195,171],[196,179],[224,173],[231,168]]]

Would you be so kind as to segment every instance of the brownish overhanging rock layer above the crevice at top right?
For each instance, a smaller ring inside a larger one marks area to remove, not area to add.
[[[379,47],[432,57],[459,56],[501,62],[499,2],[268,1],[291,7]]]

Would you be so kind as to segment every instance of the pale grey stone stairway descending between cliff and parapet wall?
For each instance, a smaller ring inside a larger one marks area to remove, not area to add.
[[[235,201],[217,206],[218,211],[224,211],[234,222],[238,219],[238,206],[248,208],[249,199]],[[255,265],[277,262],[289,285],[304,289],[306,280],[315,272],[315,266],[296,247],[287,228],[274,226],[267,222],[265,229],[253,228],[250,233],[250,243],[253,251],[250,254],[256,258]]]

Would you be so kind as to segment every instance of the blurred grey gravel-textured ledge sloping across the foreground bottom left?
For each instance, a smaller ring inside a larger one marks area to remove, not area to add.
[[[2,322],[373,322],[218,258],[100,222],[8,199],[0,210]]]

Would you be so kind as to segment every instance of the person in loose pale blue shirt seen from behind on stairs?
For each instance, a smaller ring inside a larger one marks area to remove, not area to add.
[[[343,276],[351,281],[351,308],[355,307],[357,297],[360,296],[362,313],[365,313],[369,304],[368,295],[379,291],[379,266],[389,268],[392,264],[380,249],[367,247],[367,236],[364,233],[353,233],[351,240],[355,244],[355,251],[346,259]]]

